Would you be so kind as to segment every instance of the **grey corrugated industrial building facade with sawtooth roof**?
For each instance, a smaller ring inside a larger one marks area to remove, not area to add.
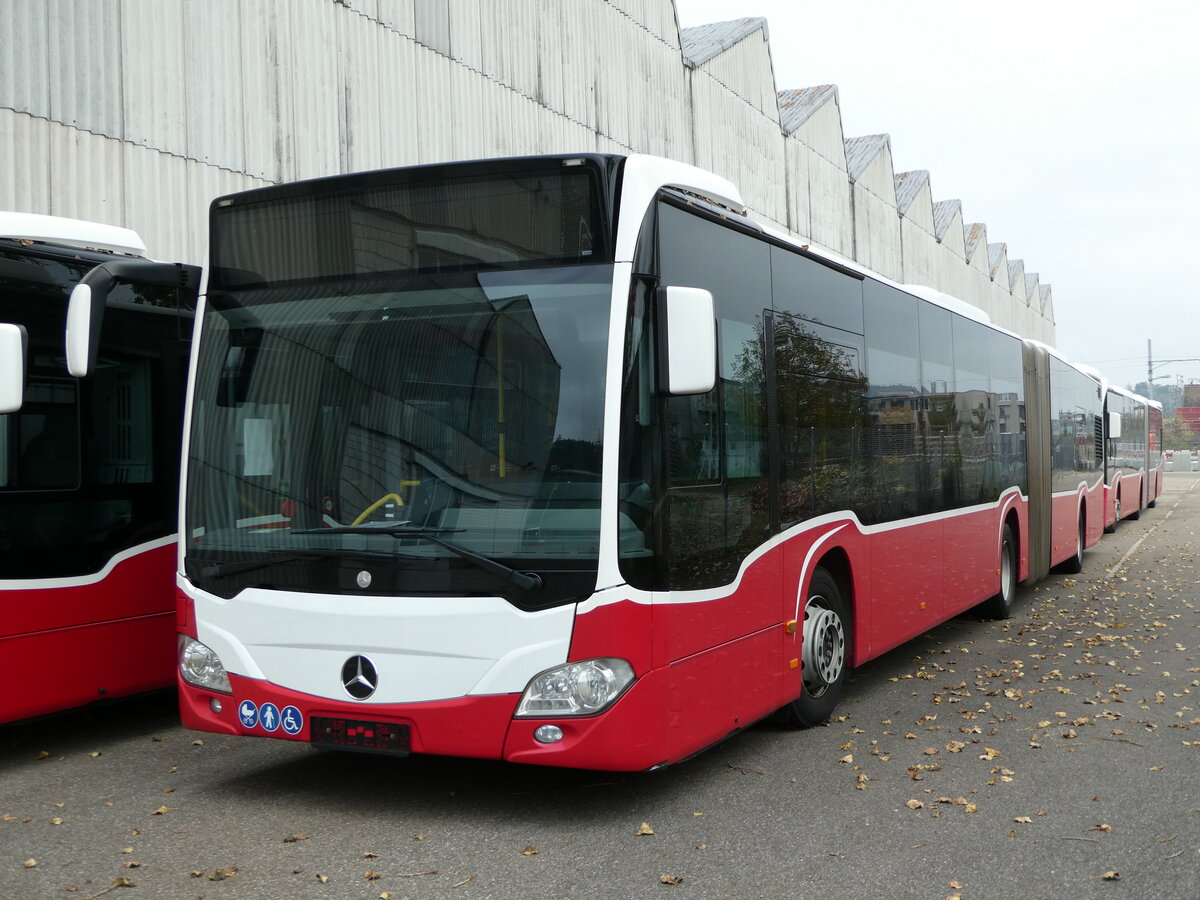
[[[136,229],[203,263],[209,202],[280,181],[541,152],[648,152],[752,215],[1054,343],[1049,284],[775,84],[767,20],[674,0],[0,0],[0,209]],[[776,43],[799,36],[776,34]]]

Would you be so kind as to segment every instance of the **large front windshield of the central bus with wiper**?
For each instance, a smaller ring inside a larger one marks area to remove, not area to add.
[[[611,292],[600,264],[212,293],[188,577],[222,596],[586,596]]]

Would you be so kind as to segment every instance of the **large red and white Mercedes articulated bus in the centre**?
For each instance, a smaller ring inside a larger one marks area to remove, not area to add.
[[[1103,391],[647,156],[211,208],[178,575],[190,728],[684,760],[1103,529]],[[92,295],[92,302],[96,302]]]

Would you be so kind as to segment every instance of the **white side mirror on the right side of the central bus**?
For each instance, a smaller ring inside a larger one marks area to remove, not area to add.
[[[667,394],[708,394],[716,384],[716,313],[702,288],[659,289],[664,335],[661,384]]]

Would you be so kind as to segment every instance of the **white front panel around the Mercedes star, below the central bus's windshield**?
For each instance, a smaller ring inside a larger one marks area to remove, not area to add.
[[[181,580],[182,582],[182,580]],[[230,600],[197,590],[197,636],[227,671],[346,701],[341,671],[365,654],[370,703],[515,694],[566,661],[575,605],[523,612],[500,598],[395,598],[250,588]]]

